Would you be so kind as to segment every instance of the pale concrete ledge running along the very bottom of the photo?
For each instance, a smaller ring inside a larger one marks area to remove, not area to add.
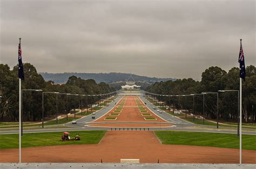
[[[104,160],[103,160],[104,162]],[[205,169],[254,169],[255,164],[128,164],[128,163],[0,163],[1,169],[12,168],[174,168],[174,169],[190,169],[190,168],[205,168]]]

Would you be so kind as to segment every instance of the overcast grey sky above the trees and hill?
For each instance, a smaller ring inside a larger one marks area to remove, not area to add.
[[[256,65],[255,1],[3,1],[0,61],[38,72],[194,78]]]

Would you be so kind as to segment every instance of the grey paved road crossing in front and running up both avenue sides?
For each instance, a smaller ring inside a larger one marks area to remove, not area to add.
[[[108,107],[105,107],[99,111],[96,112],[96,118],[102,117],[105,115],[108,111],[110,111],[115,103],[118,103],[123,96],[118,96],[116,100],[114,100],[112,103],[109,104]],[[172,116],[166,112],[159,113],[157,112],[157,109],[154,110],[153,107],[155,107],[153,104],[151,104],[149,101],[147,101],[143,96],[139,96],[140,99],[146,103],[147,107],[155,112],[158,116],[165,119],[165,121],[171,122],[174,126],[163,128],[161,127],[161,124],[165,123],[157,123],[157,122],[146,122],[146,124],[159,124],[159,128],[108,128],[108,127],[89,127],[86,126],[88,124],[92,124],[92,121],[95,121],[95,119],[92,119],[92,115],[85,116],[83,118],[80,118],[77,120],[77,124],[71,124],[66,123],[58,126],[65,126],[66,128],[56,128],[56,129],[49,129],[47,126],[45,126],[44,129],[31,129],[31,130],[24,130],[24,133],[31,133],[31,132],[52,132],[52,131],[81,131],[81,130],[173,130],[173,131],[197,131],[197,132],[217,132],[217,133],[237,133],[237,128],[224,128],[221,127],[221,129],[216,129],[215,126],[205,126],[205,125],[197,125],[190,122],[187,122],[183,119],[180,119],[176,116]],[[93,124],[106,124],[106,123],[115,123],[115,122],[98,122]],[[140,123],[140,122],[118,122],[118,123]],[[145,124],[145,122],[143,122]],[[207,128],[207,129],[206,129]],[[0,134],[8,134],[8,133],[18,133],[18,130],[9,130],[9,131],[0,131]],[[250,134],[250,135],[256,135],[256,131],[252,129],[252,131],[242,131],[243,134]]]

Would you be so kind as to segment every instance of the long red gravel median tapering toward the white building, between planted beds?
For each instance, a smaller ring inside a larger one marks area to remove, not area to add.
[[[140,101],[138,96],[125,96],[125,97],[123,97],[122,100],[116,105],[116,107],[114,107],[106,115],[97,119],[95,122],[107,122],[107,121],[104,120],[104,118],[113,117],[113,116],[110,116],[110,114],[114,113],[113,111],[116,110],[118,105],[125,99],[126,99],[125,106],[124,106],[122,112],[118,112],[120,115],[117,116],[117,119],[114,122],[152,122],[150,120],[145,120],[144,117],[146,117],[146,116],[142,116],[142,113],[149,113],[149,114],[152,115],[150,117],[157,118],[157,120],[153,121],[153,122],[166,122],[166,121],[164,121],[164,119],[161,119],[160,117],[158,117],[156,114],[154,114],[152,111],[150,111],[146,107],[144,107],[144,108],[147,110],[147,112],[140,112],[139,108],[137,106],[137,103],[135,101],[135,99],[138,99]],[[142,101],[140,101],[140,103],[142,103],[142,105],[145,106],[145,104]]]

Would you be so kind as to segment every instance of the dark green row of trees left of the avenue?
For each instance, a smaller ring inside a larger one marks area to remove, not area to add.
[[[80,95],[106,94],[115,91],[104,82],[96,83],[95,80],[83,80],[71,76],[64,85],[56,85],[53,81],[44,81],[43,76],[38,74],[36,68],[29,64],[23,64],[25,81],[22,81],[22,89],[42,89],[59,93]],[[18,121],[18,66],[11,70],[8,65],[0,64],[0,121]],[[67,102],[68,97],[68,102]],[[100,97],[83,97],[73,95],[58,95],[58,113],[84,107],[95,103]],[[23,120],[38,121],[42,118],[42,91],[23,91]],[[56,94],[44,94],[44,117],[56,114]]]

